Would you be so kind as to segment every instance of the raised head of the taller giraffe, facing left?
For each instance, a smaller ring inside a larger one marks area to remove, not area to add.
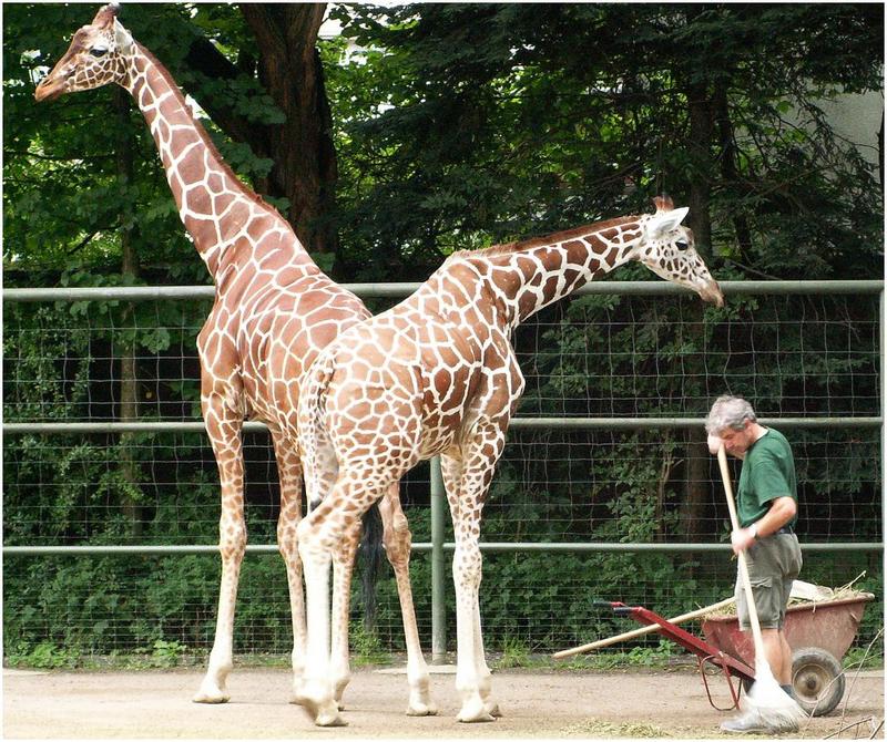
[[[118,7],[104,6],[92,20],[74,33],[64,56],[34,91],[38,101],[52,101],[64,93],[123,83],[126,58],[133,40],[116,19]]]

